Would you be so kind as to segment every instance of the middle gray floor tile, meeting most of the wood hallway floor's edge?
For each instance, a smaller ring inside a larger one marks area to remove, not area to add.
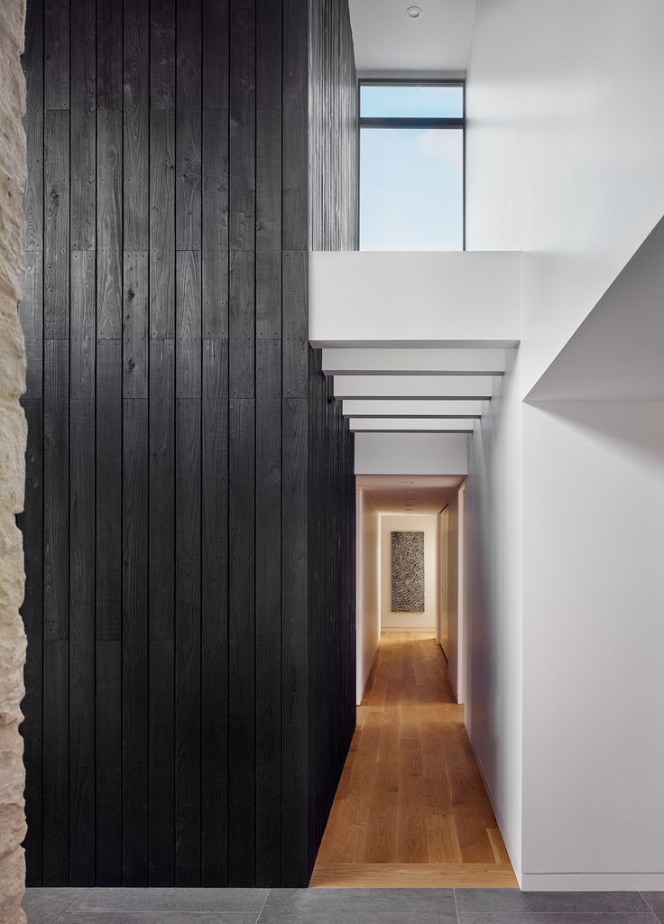
[[[272,889],[260,924],[456,924],[452,889]]]

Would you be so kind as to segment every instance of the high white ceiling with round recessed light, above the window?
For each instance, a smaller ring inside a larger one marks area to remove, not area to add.
[[[464,73],[476,0],[350,0],[357,73],[436,76]],[[417,19],[406,16],[416,5]]]

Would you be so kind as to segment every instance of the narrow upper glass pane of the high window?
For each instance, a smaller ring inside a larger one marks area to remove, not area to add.
[[[418,87],[412,84],[360,87],[360,116],[461,118],[463,115],[463,87]]]

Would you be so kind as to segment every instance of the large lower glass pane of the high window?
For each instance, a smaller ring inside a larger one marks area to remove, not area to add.
[[[363,128],[360,249],[464,248],[460,128]]]

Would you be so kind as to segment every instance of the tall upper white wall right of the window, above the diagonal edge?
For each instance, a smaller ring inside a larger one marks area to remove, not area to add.
[[[478,0],[469,249],[523,250],[523,393],[664,214],[661,0]]]

